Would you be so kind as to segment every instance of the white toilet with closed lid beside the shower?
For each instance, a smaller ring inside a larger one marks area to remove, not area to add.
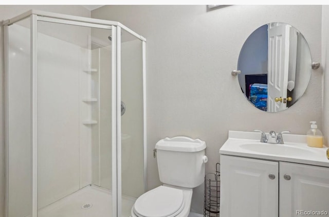
[[[137,198],[132,217],[185,217],[190,213],[193,188],[204,182],[206,143],[185,136],[156,143],[160,181]]]

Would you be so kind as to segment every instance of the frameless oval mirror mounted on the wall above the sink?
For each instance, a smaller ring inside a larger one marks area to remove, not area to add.
[[[241,90],[266,112],[286,110],[304,94],[312,59],[303,35],[285,23],[269,23],[253,31],[237,63]]]

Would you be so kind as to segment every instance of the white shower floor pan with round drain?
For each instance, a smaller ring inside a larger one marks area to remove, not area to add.
[[[122,195],[122,216],[130,216],[136,198]],[[87,186],[38,211],[38,217],[109,217],[112,215],[111,191]]]

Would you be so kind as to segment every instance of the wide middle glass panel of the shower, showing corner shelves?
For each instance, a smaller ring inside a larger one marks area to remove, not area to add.
[[[38,217],[112,216],[111,26],[50,21],[38,21]]]

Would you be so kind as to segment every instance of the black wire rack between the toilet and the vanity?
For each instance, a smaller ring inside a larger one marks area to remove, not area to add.
[[[215,173],[205,175],[204,217],[220,216],[221,172],[220,163],[216,164]]]

